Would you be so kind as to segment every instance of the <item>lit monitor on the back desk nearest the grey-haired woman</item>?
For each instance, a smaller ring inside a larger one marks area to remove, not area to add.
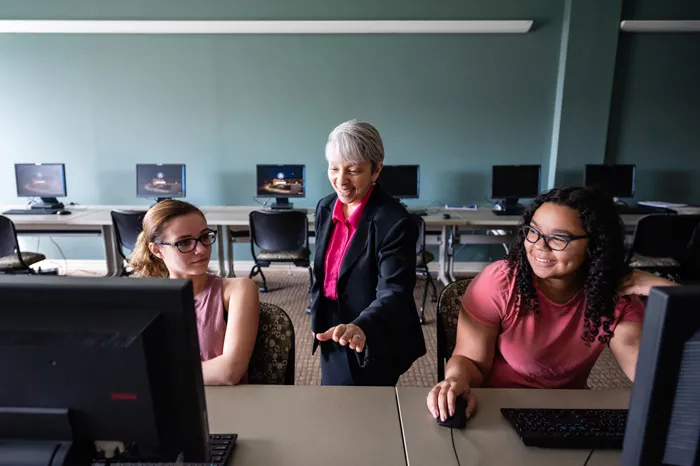
[[[290,197],[306,197],[305,165],[257,165],[258,197],[274,197],[272,209],[291,209]]]

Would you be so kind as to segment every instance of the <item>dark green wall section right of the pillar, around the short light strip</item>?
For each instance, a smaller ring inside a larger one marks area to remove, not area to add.
[[[700,19],[700,3],[638,0],[624,15]],[[606,161],[637,165],[637,199],[700,203],[700,34],[621,34]]]

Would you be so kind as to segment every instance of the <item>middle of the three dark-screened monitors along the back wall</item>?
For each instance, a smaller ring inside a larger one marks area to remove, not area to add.
[[[491,178],[491,198],[502,199],[494,204],[494,212],[521,215],[525,207],[521,198],[533,198],[540,193],[541,165],[494,165]]]

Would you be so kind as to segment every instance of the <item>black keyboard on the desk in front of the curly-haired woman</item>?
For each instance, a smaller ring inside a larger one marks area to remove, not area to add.
[[[626,409],[501,408],[523,443],[544,448],[622,448]]]

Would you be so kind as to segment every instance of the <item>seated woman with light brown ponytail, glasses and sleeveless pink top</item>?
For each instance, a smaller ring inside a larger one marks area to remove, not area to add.
[[[247,278],[208,273],[214,241],[216,232],[197,207],[162,201],[146,213],[130,265],[139,277],[192,281],[204,383],[236,385],[247,381],[258,332],[258,288]]]

